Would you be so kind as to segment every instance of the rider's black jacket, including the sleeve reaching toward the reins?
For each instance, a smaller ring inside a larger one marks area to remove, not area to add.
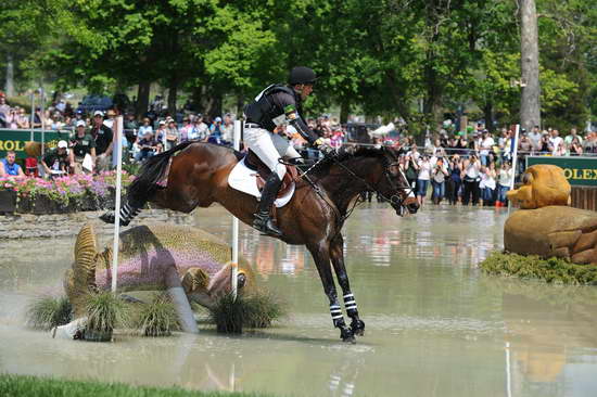
[[[276,126],[290,124],[309,142],[310,145],[319,138],[305,123],[301,95],[292,88],[282,85],[271,85],[259,92],[255,101],[244,108],[246,123],[255,123],[262,128],[274,132]]]

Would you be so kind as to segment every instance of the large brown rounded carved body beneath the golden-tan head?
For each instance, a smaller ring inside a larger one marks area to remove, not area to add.
[[[504,226],[504,246],[522,255],[597,262],[597,213],[567,206],[517,210]]]

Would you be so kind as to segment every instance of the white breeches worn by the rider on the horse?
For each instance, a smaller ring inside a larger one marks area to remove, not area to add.
[[[288,139],[263,128],[245,128],[244,143],[280,179],[287,172],[287,167],[278,162],[280,157],[301,157]]]

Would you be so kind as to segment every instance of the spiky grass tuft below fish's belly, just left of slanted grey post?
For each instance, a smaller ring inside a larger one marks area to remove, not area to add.
[[[139,305],[135,325],[145,336],[168,336],[180,329],[176,309],[166,294],[154,294],[149,304]]]

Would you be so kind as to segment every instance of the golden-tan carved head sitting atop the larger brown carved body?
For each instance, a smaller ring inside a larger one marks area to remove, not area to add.
[[[558,166],[537,164],[529,167],[522,175],[522,181],[524,185],[507,195],[523,209],[570,204],[570,183],[563,176],[563,169]]]

